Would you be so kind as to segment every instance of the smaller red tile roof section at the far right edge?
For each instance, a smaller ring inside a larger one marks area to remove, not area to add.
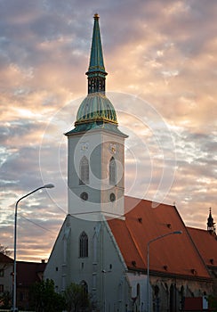
[[[187,227],[187,229],[206,266],[217,267],[217,235],[199,228]]]

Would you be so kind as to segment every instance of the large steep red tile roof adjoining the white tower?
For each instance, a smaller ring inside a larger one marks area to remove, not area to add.
[[[111,219],[109,227],[129,269],[147,269],[147,245],[152,239],[173,234],[150,243],[149,269],[171,275],[210,278],[203,259],[192,242],[177,209],[151,201],[125,196],[125,220]]]

